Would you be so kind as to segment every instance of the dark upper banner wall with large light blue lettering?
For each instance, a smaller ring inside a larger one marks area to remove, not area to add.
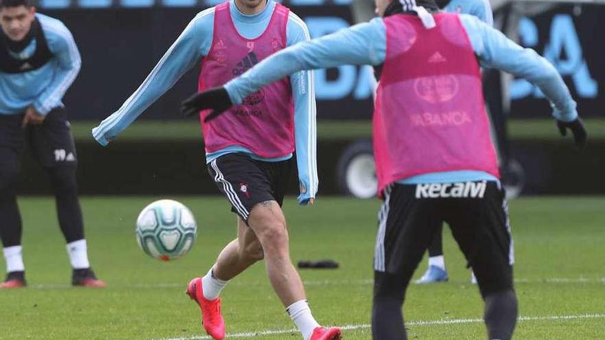
[[[39,10],[69,27],[83,56],[83,69],[65,103],[72,120],[98,121],[118,109],[157,60],[202,8],[217,1],[197,0],[42,0]],[[220,2],[220,1],[219,1]],[[573,1],[570,1],[572,3]],[[352,22],[349,0],[285,1],[317,37]],[[536,49],[558,68],[584,117],[605,117],[604,5],[553,5],[520,20],[522,45]],[[142,119],[179,117],[179,102],[196,91],[199,67],[153,104]],[[371,73],[351,65],[316,71],[318,116],[369,119]],[[513,80],[513,117],[549,117],[550,108],[531,84]]]

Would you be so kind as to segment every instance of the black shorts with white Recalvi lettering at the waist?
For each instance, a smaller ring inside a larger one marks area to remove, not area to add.
[[[483,295],[512,288],[508,209],[495,181],[391,185],[379,214],[375,271],[409,282],[442,222],[450,225]]]

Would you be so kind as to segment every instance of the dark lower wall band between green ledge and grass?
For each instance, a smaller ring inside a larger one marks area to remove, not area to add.
[[[340,194],[337,160],[350,139],[318,143],[320,196]],[[103,194],[218,194],[203,159],[202,141],[129,141],[100,148],[80,141],[80,193]],[[584,152],[569,140],[517,139],[513,154],[525,170],[524,194],[605,194],[605,139],[593,139]],[[19,192],[50,194],[50,183],[30,155],[23,159]],[[292,177],[292,194],[297,194]]]

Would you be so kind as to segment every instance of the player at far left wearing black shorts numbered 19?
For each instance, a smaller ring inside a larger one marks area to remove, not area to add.
[[[76,185],[76,148],[61,102],[80,71],[72,34],[30,0],[0,0],[0,238],[7,279],[25,286],[17,178],[25,144],[50,177],[74,286],[104,286],[90,269]]]

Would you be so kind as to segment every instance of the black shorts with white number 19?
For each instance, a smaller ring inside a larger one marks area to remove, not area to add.
[[[21,128],[23,114],[0,115],[0,166],[19,169],[28,144],[34,159],[45,168],[76,166],[78,158],[64,108],[56,108],[43,124]]]

